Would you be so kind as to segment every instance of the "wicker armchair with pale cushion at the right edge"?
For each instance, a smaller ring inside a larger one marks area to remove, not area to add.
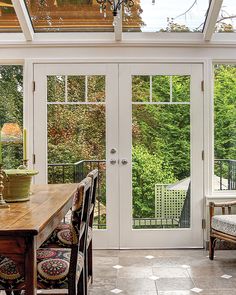
[[[225,240],[236,243],[236,214],[231,214],[232,206],[236,201],[224,203],[209,203],[210,209],[210,243],[209,258],[214,259],[216,240]],[[221,208],[221,215],[214,215],[215,208]],[[227,214],[226,214],[227,213]]]

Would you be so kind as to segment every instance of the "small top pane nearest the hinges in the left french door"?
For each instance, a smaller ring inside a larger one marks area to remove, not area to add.
[[[65,101],[65,76],[47,76],[48,102]]]

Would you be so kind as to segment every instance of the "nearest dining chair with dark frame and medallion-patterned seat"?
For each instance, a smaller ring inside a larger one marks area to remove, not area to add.
[[[78,184],[73,197],[70,223],[70,248],[39,248],[37,250],[37,288],[42,294],[87,295],[86,247],[91,206],[91,178]],[[61,233],[63,235],[63,233]],[[65,233],[67,234],[67,233]],[[16,263],[0,257],[0,285],[7,295],[24,290],[24,275]],[[60,291],[56,291],[60,289]],[[55,293],[52,293],[55,290]]]

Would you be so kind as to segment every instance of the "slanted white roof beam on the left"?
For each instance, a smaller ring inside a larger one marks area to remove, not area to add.
[[[15,8],[26,41],[32,41],[34,38],[34,29],[24,0],[12,0],[12,4]]]

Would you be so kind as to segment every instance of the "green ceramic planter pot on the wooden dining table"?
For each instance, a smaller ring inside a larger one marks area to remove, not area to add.
[[[3,198],[6,202],[28,201],[30,198],[30,185],[32,177],[38,171],[28,169],[4,170]]]

